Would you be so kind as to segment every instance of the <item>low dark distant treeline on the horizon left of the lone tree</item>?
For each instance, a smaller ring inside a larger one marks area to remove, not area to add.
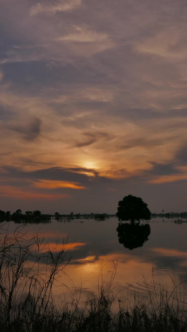
[[[0,210],[0,221],[15,221],[15,222],[49,222],[51,218],[55,217],[56,220],[63,220],[63,219],[89,219],[94,218],[98,220],[104,220],[109,217],[113,217],[115,214],[107,214],[107,213],[90,213],[90,214],[81,214],[76,213],[74,214],[71,212],[70,214],[60,214],[59,212],[55,212],[54,214],[43,214],[40,210],[35,211],[25,211],[25,213],[22,213],[21,209],[16,210],[11,214],[10,211],[3,211]]]

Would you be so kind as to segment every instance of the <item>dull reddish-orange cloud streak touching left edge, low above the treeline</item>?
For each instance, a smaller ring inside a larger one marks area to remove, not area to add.
[[[68,198],[70,195],[67,194],[43,194],[31,191],[25,191],[20,188],[12,186],[0,186],[0,196],[1,197],[12,197],[18,199],[57,199],[57,198]]]

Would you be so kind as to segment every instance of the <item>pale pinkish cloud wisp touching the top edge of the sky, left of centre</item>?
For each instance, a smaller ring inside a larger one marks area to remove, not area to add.
[[[38,2],[30,9],[30,15],[38,15],[40,13],[56,14],[57,12],[68,12],[81,6],[81,0],[62,0],[60,2],[45,4]]]

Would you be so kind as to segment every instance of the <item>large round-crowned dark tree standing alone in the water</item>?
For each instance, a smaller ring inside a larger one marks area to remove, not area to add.
[[[140,220],[149,220],[150,211],[147,204],[140,197],[128,195],[118,202],[117,213],[119,221],[131,222]]]

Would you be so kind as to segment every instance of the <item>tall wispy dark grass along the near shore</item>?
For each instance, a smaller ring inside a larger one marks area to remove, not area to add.
[[[184,284],[173,280],[169,292],[154,283],[147,296],[119,297],[113,289],[116,273],[108,283],[99,276],[98,296],[56,303],[53,285],[69,263],[66,243],[60,251],[46,250],[47,243],[38,235],[27,237],[18,227],[0,242],[0,331],[16,332],[185,332],[186,303],[178,292]],[[45,248],[45,250],[44,250]],[[185,289],[184,289],[185,290]]]

